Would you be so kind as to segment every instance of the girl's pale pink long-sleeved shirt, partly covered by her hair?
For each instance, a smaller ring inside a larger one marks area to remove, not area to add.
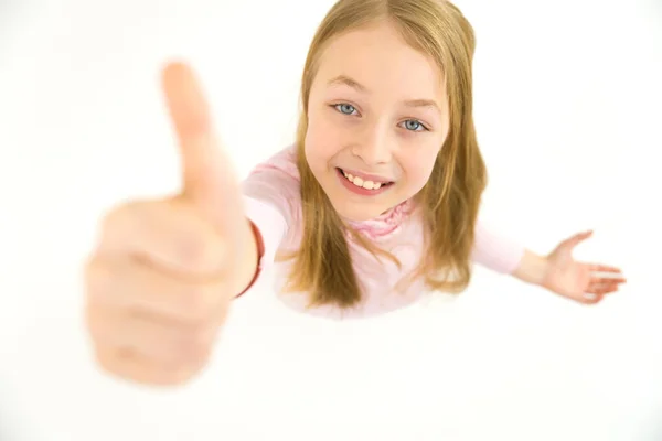
[[[298,311],[332,319],[383,314],[419,300],[427,292],[423,280],[409,284],[404,292],[394,289],[401,278],[414,269],[423,252],[423,224],[413,215],[409,201],[377,218],[352,223],[402,263],[402,269],[398,269],[387,259],[380,262],[361,245],[348,239],[354,271],[363,288],[363,300],[359,306],[348,311],[335,306],[306,310],[307,293],[281,293],[291,262],[275,263],[275,255],[279,249],[298,249],[302,234],[299,171],[295,158],[293,147],[284,149],[259,164],[242,184],[247,216],[264,240],[263,271],[258,278],[263,277],[265,269],[275,266],[275,289],[281,301]],[[517,267],[524,252],[521,245],[494,235],[480,222],[476,235],[474,262],[501,273],[510,273]],[[244,295],[249,293],[250,289]]]

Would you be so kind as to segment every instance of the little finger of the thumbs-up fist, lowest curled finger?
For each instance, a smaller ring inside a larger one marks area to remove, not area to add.
[[[94,353],[96,362],[105,372],[149,386],[178,386],[191,379],[202,368],[202,365],[172,368],[114,346],[95,346]]]

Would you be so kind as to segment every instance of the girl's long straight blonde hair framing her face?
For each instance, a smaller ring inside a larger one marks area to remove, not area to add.
[[[424,220],[426,249],[413,277],[433,290],[460,292],[470,281],[470,254],[487,170],[472,117],[473,30],[457,7],[445,0],[340,0],[328,12],[310,45],[301,80],[302,110],[296,146],[301,178],[303,233],[286,287],[309,293],[309,308],[361,302],[348,235],[375,257],[386,255],[343,224],[312,174],[305,155],[308,99],[320,56],[330,41],[381,20],[388,20],[414,49],[430,56],[445,73],[450,128],[433,172],[415,204]],[[279,256],[282,260],[284,256]]]

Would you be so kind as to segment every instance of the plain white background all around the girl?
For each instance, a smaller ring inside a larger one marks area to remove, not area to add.
[[[629,283],[586,308],[478,268],[459,298],[299,315],[265,284],[177,390],[92,363],[81,263],[97,222],[179,185],[159,89],[204,82],[242,176],[293,139],[331,0],[0,2],[0,440],[661,440],[662,4],[462,0],[478,35],[483,216]]]

